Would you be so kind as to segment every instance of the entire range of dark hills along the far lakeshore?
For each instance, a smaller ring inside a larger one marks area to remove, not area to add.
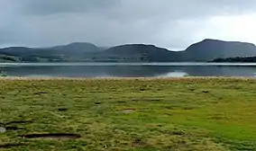
[[[256,57],[256,46],[246,42],[206,39],[183,51],[171,51],[144,44],[127,44],[106,49],[87,42],[74,42],[50,48],[10,47],[0,49],[0,55],[19,58],[15,60],[23,62],[206,62],[215,58]]]

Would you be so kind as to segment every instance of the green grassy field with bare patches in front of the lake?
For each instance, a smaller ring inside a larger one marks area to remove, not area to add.
[[[252,79],[7,78],[0,85],[1,151],[256,150]]]

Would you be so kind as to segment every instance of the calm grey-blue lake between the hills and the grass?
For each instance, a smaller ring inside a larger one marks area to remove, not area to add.
[[[253,63],[0,63],[1,70],[24,77],[256,76]]]

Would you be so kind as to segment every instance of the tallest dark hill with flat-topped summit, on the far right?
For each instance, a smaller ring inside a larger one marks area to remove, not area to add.
[[[254,44],[237,41],[203,40],[189,46],[184,51],[187,61],[207,61],[215,58],[235,58],[256,56]]]

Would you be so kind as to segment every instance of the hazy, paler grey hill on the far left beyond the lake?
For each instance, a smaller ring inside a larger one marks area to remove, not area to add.
[[[78,61],[91,58],[103,50],[91,43],[75,42],[50,48],[10,47],[0,49],[0,54],[16,56],[24,62]]]

